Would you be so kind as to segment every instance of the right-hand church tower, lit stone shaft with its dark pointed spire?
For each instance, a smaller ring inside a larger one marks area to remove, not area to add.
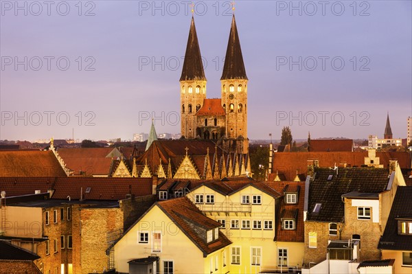
[[[220,78],[222,90],[222,106],[226,111],[226,129],[223,146],[236,152],[248,153],[249,140],[247,139],[247,82],[244,69],[242,49],[238,28],[236,27],[235,14],[231,22],[229,42],[222,77]]]

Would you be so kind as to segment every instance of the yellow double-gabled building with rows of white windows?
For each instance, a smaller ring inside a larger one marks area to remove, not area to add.
[[[203,214],[222,224],[233,242],[228,260],[231,273],[260,273],[277,269],[275,212],[278,192],[262,182],[211,181],[187,196]]]

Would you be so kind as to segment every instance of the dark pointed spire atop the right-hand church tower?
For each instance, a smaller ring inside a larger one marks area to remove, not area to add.
[[[240,40],[238,35],[238,27],[236,27],[235,14],[233,14],[232,17],[229,42],[227,43],[225,65],[223,66],[222,78],[220,78],[220,80],[229,79],[248,80],[246,76],[246,69],[244,69],[242,49],[240,48]]]

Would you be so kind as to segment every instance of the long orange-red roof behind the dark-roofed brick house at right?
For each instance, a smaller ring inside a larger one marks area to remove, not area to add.
[[[273,153],[272,173],[268,174],[268,181],[273,181],[278,174],[284,174],[286,181],[293,181],[296,171],[299,174],[308,174],[308,160],[319,160],[319,167],[329,168],[336,165],[343,167],[341,163],[347,163],[347,167],[361,167],[365,163],[367,151],[361,152],[276,152]],[[380,157],[380,164],[384,168],[389,167],[389,160],[398,160],[400,168],[411,168],[411,155],[409,152],[376,152]]]

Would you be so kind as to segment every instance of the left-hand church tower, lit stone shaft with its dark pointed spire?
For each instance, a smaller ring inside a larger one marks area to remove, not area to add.
[[[203,101],[206,98],[206,81],[205,71],[203,71],[201,49],[192,16],[185,60],[180,78],[181,135],[186,139],[196,137],[195,113],[201,109]]]

